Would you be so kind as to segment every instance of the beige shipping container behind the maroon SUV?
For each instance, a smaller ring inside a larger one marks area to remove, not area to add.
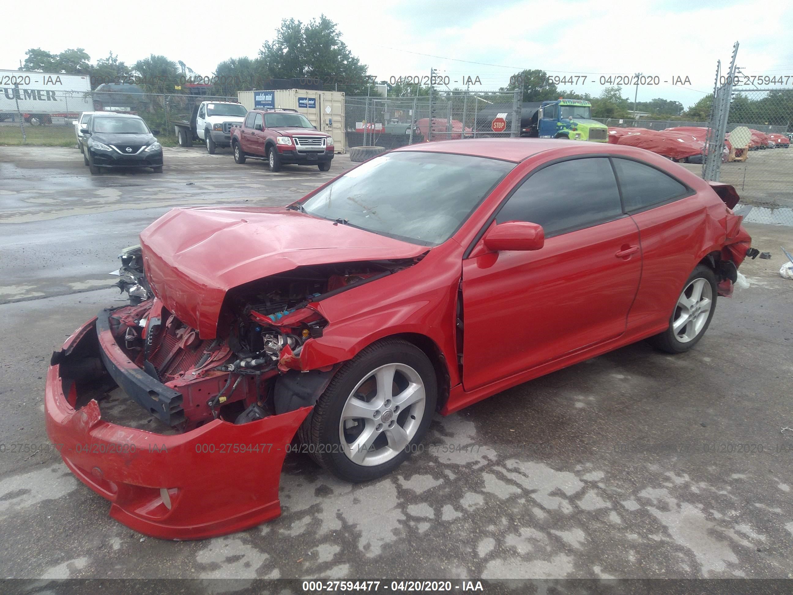
[[[238,91],[247,109],[296,109],[316,126],[333,136],[335,152],[344,152],[344,92],[308,89]]]

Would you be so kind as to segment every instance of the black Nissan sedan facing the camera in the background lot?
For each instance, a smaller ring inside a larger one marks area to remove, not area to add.
[[[92,174],[102,167],[151,167],[163,171],[163,146],[146,122],[128,114],[95,114],[81,129],[82,159]]]

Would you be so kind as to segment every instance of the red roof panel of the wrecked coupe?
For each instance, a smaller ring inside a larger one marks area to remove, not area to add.
[[[567,155],[586,155],[589,153],[603,155],[625,155],[655,161],[652,152],[636,147],[628,147],[611,143],[595,143],[588,140],[561,140],[542,138],[481,138],[461,140],[434,140],[429,143],[410,144],[395,151],[423,151],[438,153],[457,153],[488,159],[502,159],[519,163],[524,159],[546,151],[557,152],[558,157]],[[658,155],[655,155],[658,157]]]

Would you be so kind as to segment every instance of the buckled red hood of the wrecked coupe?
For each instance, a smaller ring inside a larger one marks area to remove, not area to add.
[[[427,251],[284,207],[173,209],[144,229],[140,245],[157,298],[203,339],[216,336],[232,287],[306,265],[405,259]]]

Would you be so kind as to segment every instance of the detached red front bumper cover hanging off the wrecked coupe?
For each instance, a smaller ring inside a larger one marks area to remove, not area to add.
[[[181,540],[241,531],[280,515],[284,457],[312,408],[247,424],[216,419],[178,435],[110,424],[97,401],[78,405],[86,400],[80,370],[100,365],[100,355],[113,378],[140,368],[120,348],[102,345],[107,340],[97,336],[94,318],[53,354],[44,413],[63,462],[112,503],[110,516],[147,536]]]

